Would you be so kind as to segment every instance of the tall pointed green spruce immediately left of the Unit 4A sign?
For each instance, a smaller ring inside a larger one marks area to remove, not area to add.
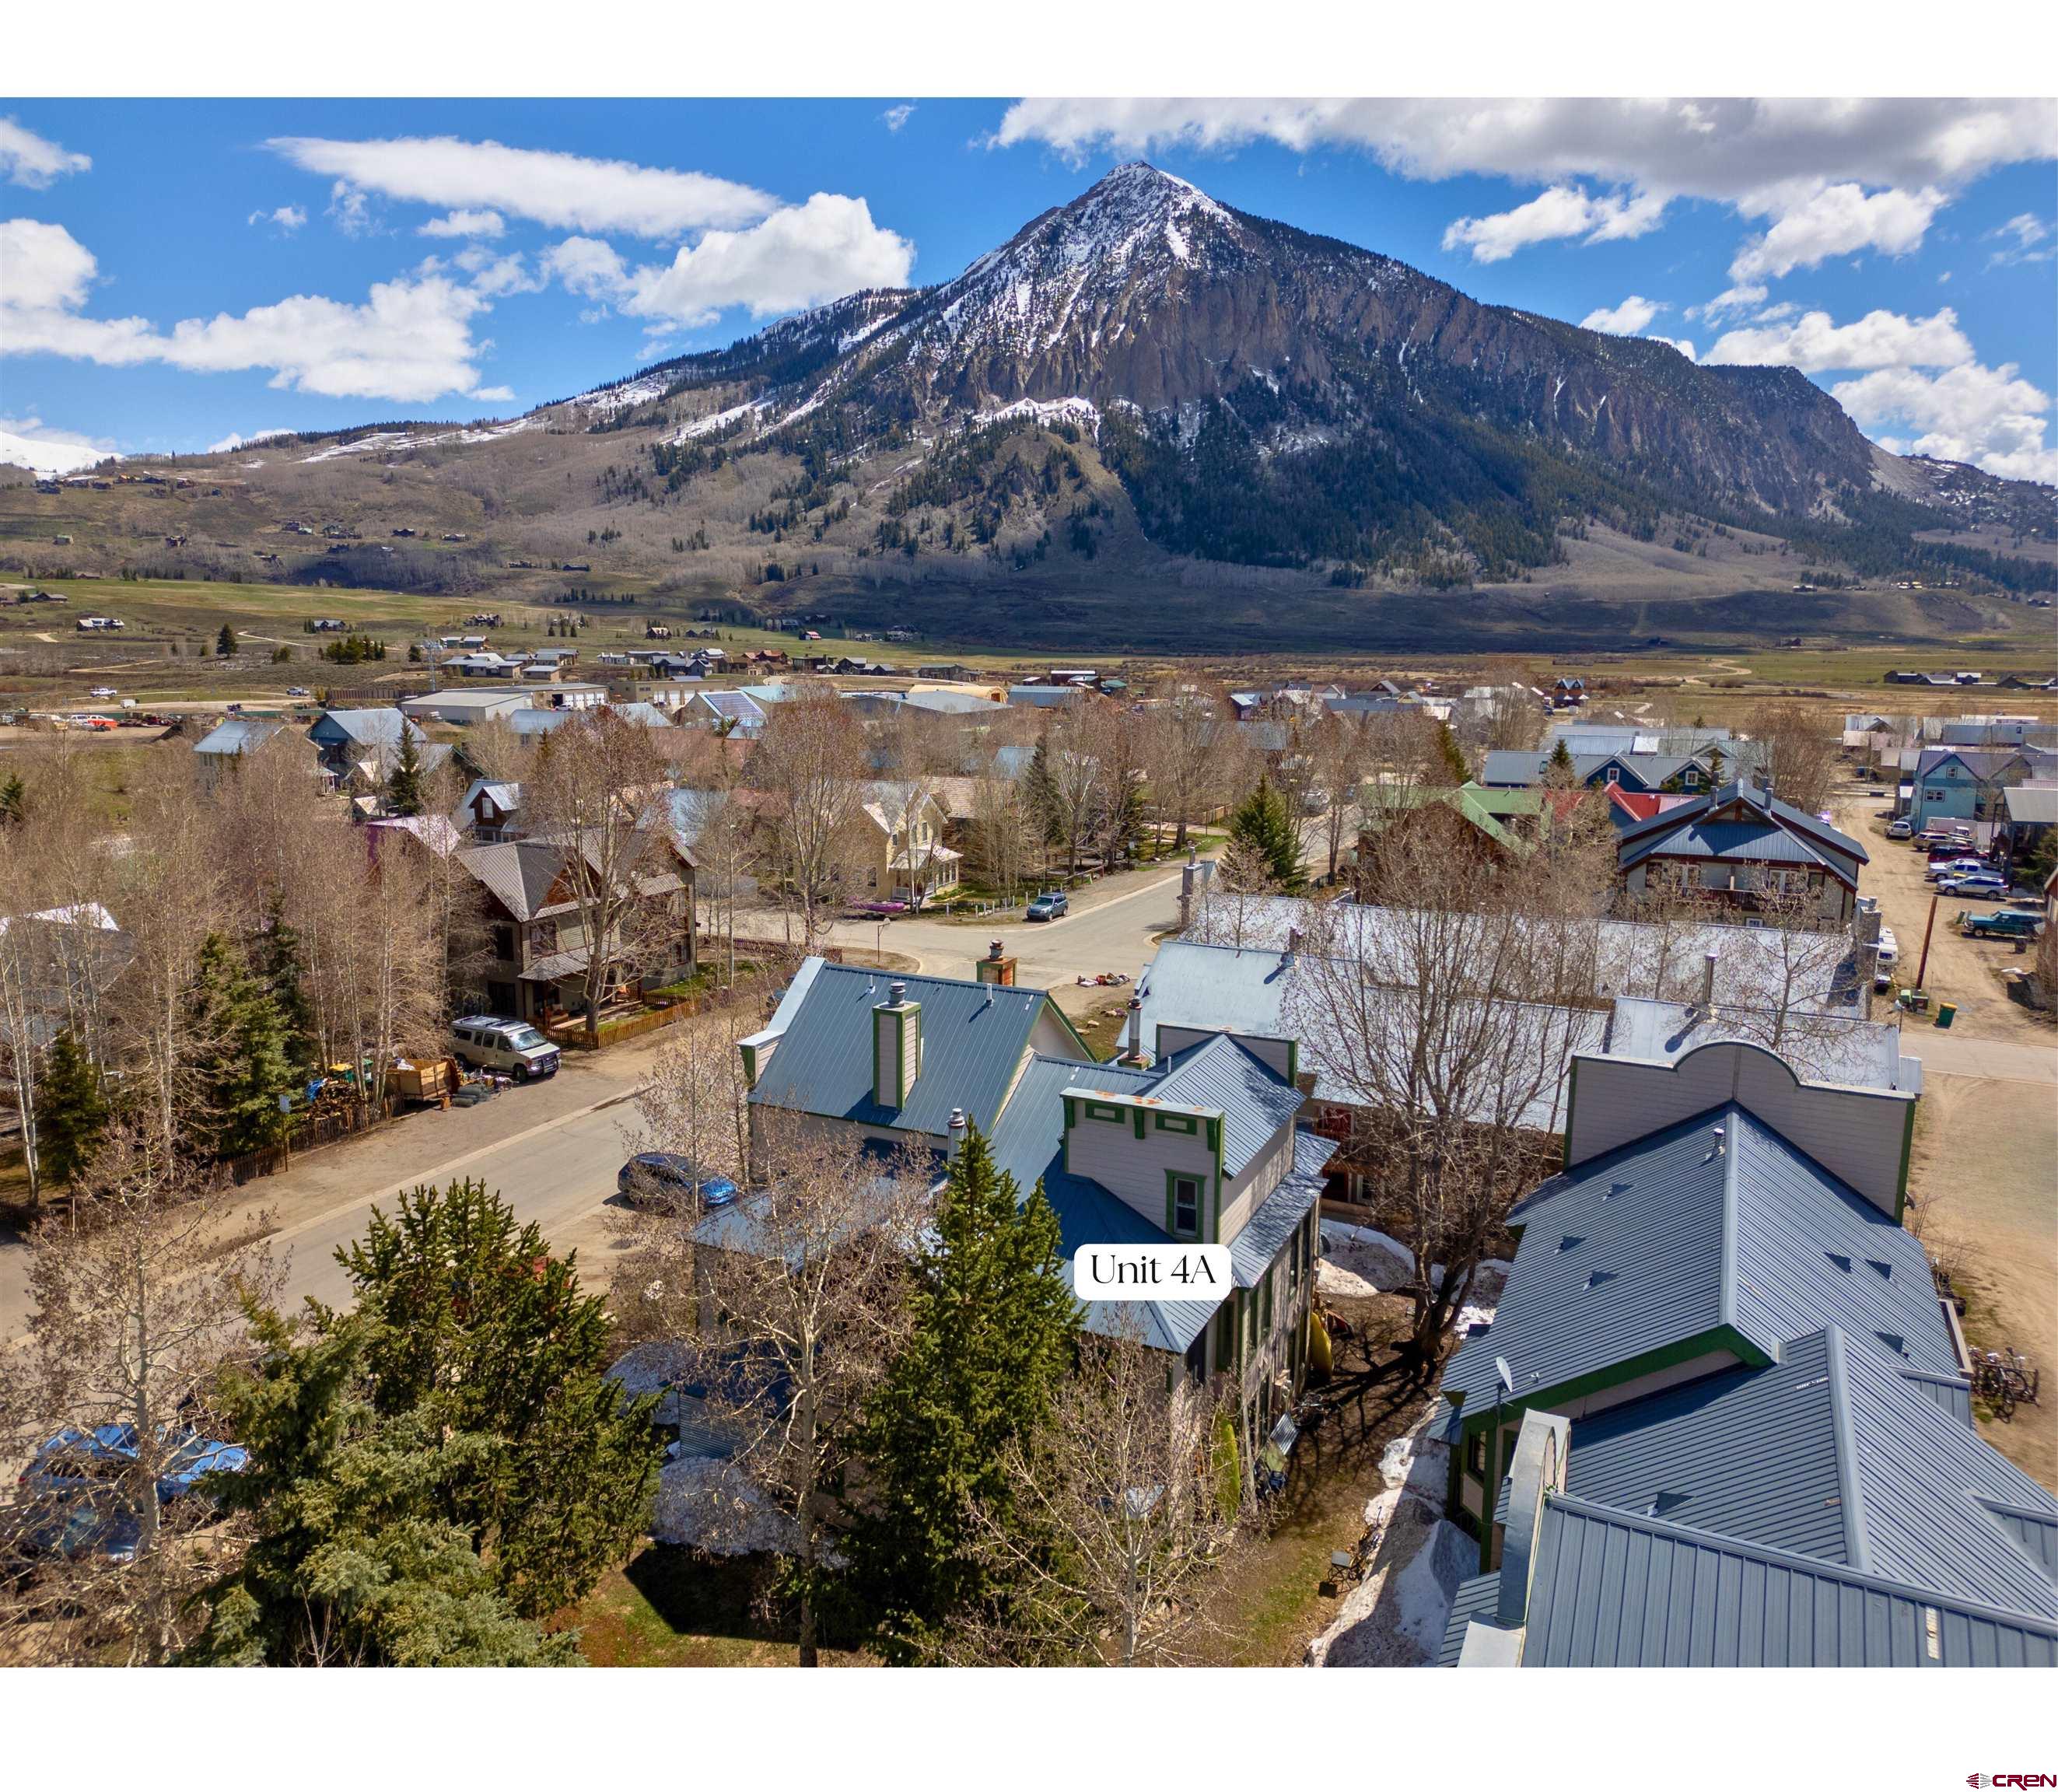
[[[1078,1337],[1043,1185],[1021,1202],[975,1127],[916,1261],[910,1319],[866,1401],[873,1500],[848,1539],[858,1603],[895,1662],[934,1658],[953,1617],[988,1594],[971,1512],[1006,1514],[1002,1455],[1048,1418]]]

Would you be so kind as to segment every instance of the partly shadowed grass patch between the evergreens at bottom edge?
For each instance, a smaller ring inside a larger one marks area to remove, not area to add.
[[[650,1543],[626,1568],[609,1570],[578,1605],[560,1611],[552,1627],[576,1627],[595,1666],[792,1666],[792,1632],[774,1627],[761,1588],[764,1564],[755,1557],[710,1560]],[[866,1656],[825,1648],[821,1660],[862,1666]]]

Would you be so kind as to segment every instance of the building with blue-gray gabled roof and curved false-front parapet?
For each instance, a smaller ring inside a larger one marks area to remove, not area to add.
[[[1832,1325],[1955,1399],[1965,1343],[1900,1224],[1912,1119],[1910,1095],[1809,1084],[1735,1041],[1583,1058],[1566,1169],[1511,1214],[1498,1311],[1445,1364],[1451,1516],[1490,1553],[1523,1411],[1583,1422]]]

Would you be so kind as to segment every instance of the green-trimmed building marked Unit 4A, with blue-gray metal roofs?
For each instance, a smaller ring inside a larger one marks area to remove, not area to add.
[[[809,959],[739,1049],[753,1127],[782,1115],[938,1156],[980,1127],[1023,1197],[1043,1187],[1068,1257],[1227,1245],[1231,1286],[1190,1300],[1107,1302],[1074,1284],[1085,1323],[1138,1321],[1194,1378],[1233,1374],[1266,1413],[1299,1387],[1334,1146],[1301,1130],[1301,1090],[1241,1043],[1097,1064],[1043,990]]]

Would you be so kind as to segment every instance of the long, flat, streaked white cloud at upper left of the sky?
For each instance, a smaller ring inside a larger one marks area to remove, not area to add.
[[[272,138],[294,167],[445,210],[496,210],[558,230],[679,237],[745,224],[778,202],[714,175],[463,138]]]

